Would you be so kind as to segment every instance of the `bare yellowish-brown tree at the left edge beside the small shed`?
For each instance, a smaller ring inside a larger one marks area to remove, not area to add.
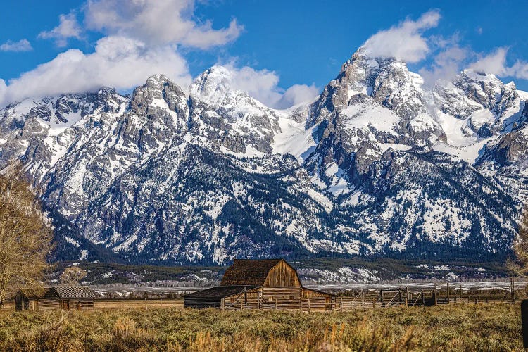
[[[51,224],[29,185],[0,175],[0,308],[20,287],[42,288],[52,239]]]

